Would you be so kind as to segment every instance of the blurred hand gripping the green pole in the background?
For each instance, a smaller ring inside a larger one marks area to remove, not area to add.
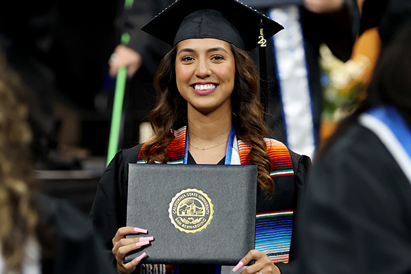
[[[121,66],[125,66],[127,68],[127,76],[132,77],[140,69],[142,58],[140,53],[134,51],[134,49],[118,45],[110,56],[108,64],[110,65],[109,74],[111,77],[116,77],[117,71],[119,71]]]

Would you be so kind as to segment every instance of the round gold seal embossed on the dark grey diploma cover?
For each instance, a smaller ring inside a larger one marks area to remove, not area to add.
[[[171,199],[169,217],[175,228],[186,233],[196,233],[210,224],[214,213],[211,199],[195,188],[178,192]]]

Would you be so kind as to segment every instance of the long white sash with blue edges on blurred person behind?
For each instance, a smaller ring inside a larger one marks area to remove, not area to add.
[[[292,151],[312,158],[316,148],[314,110],[299,7],[272,8],[268,15],[284,26],[284,30],[271,39],[286,145]]]

